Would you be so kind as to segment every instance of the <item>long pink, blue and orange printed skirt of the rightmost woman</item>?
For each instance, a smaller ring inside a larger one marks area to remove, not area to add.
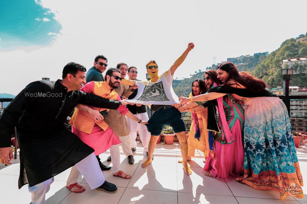
[[[244,174],[236,180],[258,190],[304,198],[290,119],[277,97],[250,98],[245,103]]]

